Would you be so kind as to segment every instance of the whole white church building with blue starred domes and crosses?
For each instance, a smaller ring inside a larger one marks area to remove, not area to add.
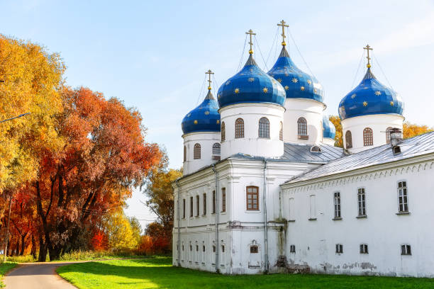
[[[402,140],[404,103],[374,77],[366,48],[365,77],[339,105],[344,149],[321,84],[284,41],[269,72],[250,44],[216,97],[210,80],[182,120],[174,266],[434,277],[434,132]]]

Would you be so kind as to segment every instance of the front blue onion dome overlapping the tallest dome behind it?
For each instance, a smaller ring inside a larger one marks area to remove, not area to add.
[[[250,55],[243,69],[220,86],[217,100],[221,108],[235,103],[275,103],[284,106],[285,91],[282,85],[257,67]]]

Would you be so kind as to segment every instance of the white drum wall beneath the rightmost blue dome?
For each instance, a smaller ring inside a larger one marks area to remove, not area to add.
[[[347,130],[350,130],[352,135],[352,148],[348,150],[352,153],[386,145],[386,129],[399,128],[402,130],[403,122],[404,117],[397,114],[361,115],[354,118],[346,118],[341,122],[344,138],[343,144],[346,146],[345,133]],[[372,129],[374,145],[367,147],[363,145],[363,130],[365,130],[365,128]]]

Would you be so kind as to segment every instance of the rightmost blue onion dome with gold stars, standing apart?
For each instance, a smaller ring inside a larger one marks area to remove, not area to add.
[[[404,102],[395,91],[381,84],[368,68],[362,82],[339,103],[341,120],[360,115],[399,114]]]

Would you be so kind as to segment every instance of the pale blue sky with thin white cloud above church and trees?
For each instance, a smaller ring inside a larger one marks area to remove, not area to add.
[[[138,108],[147,140],[166,147],[174,168],[182,165],[182,118],[204,97],[204,72],[212,69],[218,84],[233,76],[250,28],[272,67],[282,19],[324,86],[326,113],[337,114],[340,99],[362,78],[365,67],[356,72],[369,43],[379,61],[373,72],[401,94],[407,120],[434,125],[434,1],[0,0],[0,15],[0,33],[60,52],[67,84]],[[255,55],[265,67],[257,47]],[[128,215],[151,219],[138,200],[143,196],[135,192]]]

